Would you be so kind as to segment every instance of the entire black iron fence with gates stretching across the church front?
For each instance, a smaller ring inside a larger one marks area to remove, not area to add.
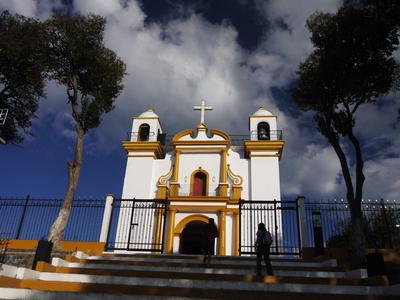
[[[212,196],[209,194],[209,196]],[[74,200],[64,231],[64,240],[99,241],[105,200]],[[30,197],[0,198],[1,239],[46,238],[58,216],[62,199]],[[162,252],[164,247],[167,201],[154,199],[115,200],[110,213],[107,247],[109,250]],[[400,203],[388,200],[362,202],[368,247],[400,249]],[[239,204],[239,251],[254,253],[257,225],[264,222],[274,236],[273,254],[299,254],[304,246],[315,245],[313,214],[321,216],[325,246],[342,247],[349,238],[350,210],[345,200],[244,201]],[[299,221],[299,215],[302,219]],[[158,231],[155,228],[158,228]],[[306,238],[300,233],[306,232]],[[160,231],[161,230],[161,231]],[[107,236],[107,233],[105,234]],[[106,238],[104,238],[104,242]],[[303,244],[301,244],[303,243]]]

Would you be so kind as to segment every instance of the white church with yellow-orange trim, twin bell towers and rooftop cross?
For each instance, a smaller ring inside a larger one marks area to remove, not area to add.
[[[281,199],[284,141],[277,116],[260,107],[248,117],[248,136],[238,146],[226,132],[208,128],[205,112],[212,108],[204,101],[194,109],[201,113],[197,127],[176,133],[168,143],[152,109],[133,117],[130,140],[122,143],[127,153],[122,199],[169,201],[165,223],[155,214],[135,224],[150,227],[152,239],[163,241],[164,253],[200,253],[199,231],[214,218],[219,232],[215,253],[238,255],[240,239],[248,238],[239,233],[239,200]],[[131,213],[119,213],[117,238],[132,234],[127,232]],[[281,224],[281,215],[275,218]],[[140,234],[130,236],[133,242],[141,239]]]

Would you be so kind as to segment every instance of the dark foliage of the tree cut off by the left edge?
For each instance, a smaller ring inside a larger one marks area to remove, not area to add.
[[[0,109],[9,110],[0,137],[7,142],[22,142],[23,132],[30,134],[46,79],[45,36],[35,19],[0,15]]]

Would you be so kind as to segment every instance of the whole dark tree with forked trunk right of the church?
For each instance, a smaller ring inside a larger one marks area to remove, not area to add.
[[[365,176],[362,145],[354,132],[356,114],[361,105],[378,101],[393,87],[399,26],[369,4],[349,2],[358,5],[348,3],[336,14],[317,12],[307,20],[314,51],[300,64],[299,81],[291,94],[301,110],[315,112],[317,129],[339,158],[351,214],[350,254],[359,264],[365,257],[361,211]],[[352,151],[346,153],[345,146]]]

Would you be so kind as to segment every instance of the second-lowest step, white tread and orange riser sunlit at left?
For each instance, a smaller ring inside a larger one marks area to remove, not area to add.
[[[302,283],[275,283],[199,280],[179,278],[143,278],[88,274],[38,272],[24,268],[15,271],[21,280],[20,288],[58,292],[123,293],[139,295],[165,295],[174,297],[243,299],[242,297],[278,296],[289,299],[301,293],[316,299],[324,295],[333,299],[348,296],[352,299],[375,299],[374,296],[400,296],[400,291],[388,287],[346,286]],[[395,298],[393,298],[395,299]]]

